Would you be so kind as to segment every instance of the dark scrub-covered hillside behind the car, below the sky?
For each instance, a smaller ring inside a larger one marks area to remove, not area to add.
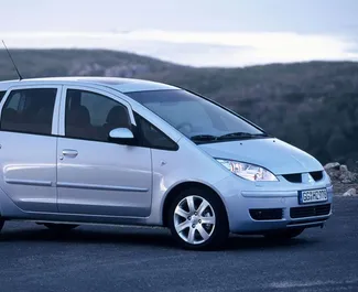
[[[165,82],[211,97],[322,163],[358,161],[358,63],[310,62],[195,68],[135,54],[15,50],[22,75],[120,76]],[[0,79],[15,78],[0,51]]]

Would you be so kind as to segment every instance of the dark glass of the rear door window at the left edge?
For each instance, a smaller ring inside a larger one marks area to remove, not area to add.
[[[57,89],[12,90],[2,108],[3,131],[51,134]]]

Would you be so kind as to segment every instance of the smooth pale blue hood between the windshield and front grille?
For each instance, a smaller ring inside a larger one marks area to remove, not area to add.
[[[323,170],[306,152],[279,139],[251,139],[199,144],[213,158],[257,164],[274,174],[304,173]]]

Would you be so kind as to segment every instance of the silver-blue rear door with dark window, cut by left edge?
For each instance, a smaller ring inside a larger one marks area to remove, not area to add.
[[[0,102],[0,185],[22,210],[57,212],[59,86],[12,87]]]

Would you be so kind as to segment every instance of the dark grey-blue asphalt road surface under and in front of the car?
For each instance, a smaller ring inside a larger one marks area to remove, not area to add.
[[[82,227],[58,236],[9,223],[0,292],[358,291],[358,198],[336,198],[324,229],[289,242],[230,237],[226,250],[176,248],[165,229]]]

